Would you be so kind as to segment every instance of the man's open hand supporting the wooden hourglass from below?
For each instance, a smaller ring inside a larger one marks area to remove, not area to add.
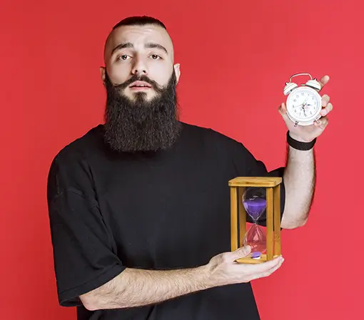
[[[283,263],[283,257],[277,257],[260,264],[243,264],[236,259],[246,257],[251,252],[251,247],[241,247],[233,252],[223,252],[211,258],[206,265],[208,282],[212,287],[227,284],[250,282],[253,279],[268,277]]]

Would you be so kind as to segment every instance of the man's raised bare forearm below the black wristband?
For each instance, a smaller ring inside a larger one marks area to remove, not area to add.
[[[293,229],[305,224],[315,189],[314,150],[296,150],[288,146],[285,172],[285,210],[281,227]]]

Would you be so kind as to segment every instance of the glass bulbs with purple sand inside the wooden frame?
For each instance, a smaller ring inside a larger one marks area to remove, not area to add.
[[[258,224],[258,220],[267,207],[266,189],[262,187],[248,187],[241,199],[246,213],[253,220],[253,224],[243,238],[243,244],[251,246],[251,257],[258,259],[266,252],[266,234]]]

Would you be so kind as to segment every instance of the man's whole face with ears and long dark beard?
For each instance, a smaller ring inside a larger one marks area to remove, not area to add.
[[[159,26],[122,26],[111,33],[101,68],[106,88],[104,138],[118,152],[156,152],[180,133],[173,46]]]

